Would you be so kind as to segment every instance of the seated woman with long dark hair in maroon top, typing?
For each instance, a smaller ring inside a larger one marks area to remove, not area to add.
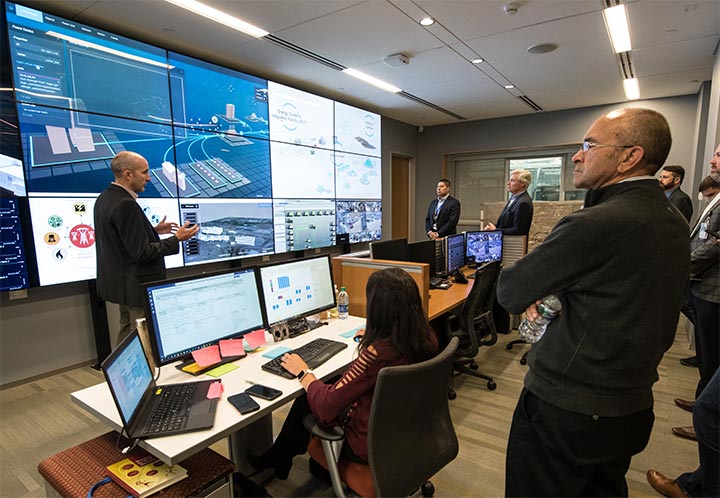
[[[254,468],[273,468],[275,477],[287,479],[293,457],[307,451],[310,433],[303,419],[310,412],[323,424],[342,425],[345,442],[341,454],[367,463],[368,418],[378,372],[428,360],[438,353],[417,285],[405,271],[388,268],[373,273],[365,293],[367,324],[357,337],[358,358],[337,382],[319,380],[296,354],[283,356],[283,367],[298,377],[307,394],[293,403],[273,446],[261,456],[248,455]]]

